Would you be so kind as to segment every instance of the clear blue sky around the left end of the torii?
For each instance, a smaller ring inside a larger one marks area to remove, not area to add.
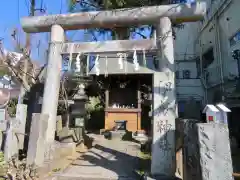
[[[61,2],[62,1],[62,2]],[[36,0],[36,9],[43,7],[46,9],[46,14],[67,13],[67,0]],[[62,3],[62,4],[61,4]],[[28,16],[28,6],[30,0],[2,0],[0,6],[0,38],[4,38],[3,43],[6,49],[14,50],[14,41],[11,37],[12,31],[17,28],[20,41],[25,43],[25,33],[21,29],[20,18]],[[36,14],[40,14],[39,11]],[[69,37],[73,40],[83,40],[83,32],[68,32]],[[32,57],[34,60],[44,63],[44,52],[48,46],[47,33],[33,34],[32,41]],[[39,47],[39,48],[38,48]]]

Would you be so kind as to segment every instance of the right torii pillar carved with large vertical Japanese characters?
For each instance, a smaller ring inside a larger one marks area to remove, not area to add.
[[[171,20],[160,18],[156,24],[159,71],[153,74],[152,174],[175,174],[175,63]],[[164,162],[164,163],[163,163]]]

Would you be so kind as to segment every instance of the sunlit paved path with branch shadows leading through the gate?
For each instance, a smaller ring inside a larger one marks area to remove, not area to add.
[[[139,145],[91,135],[95,145],[52,180],[135,180]]]

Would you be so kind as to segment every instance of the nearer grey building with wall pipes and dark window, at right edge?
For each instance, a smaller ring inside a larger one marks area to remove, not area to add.
[[[206,2],[205,19],[194,23],[197,34],[193,43],[200,64],[205,103],[224,101],[228,107],[237,107],[239,100],[233,94],[236,94],[239,70],[232,51],[240,48],[240,1]]]

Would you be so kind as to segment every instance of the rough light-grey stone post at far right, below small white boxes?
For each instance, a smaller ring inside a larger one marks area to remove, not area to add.
[[[233,180],[228,127],[225,124],[198,124],[202,180]]]

